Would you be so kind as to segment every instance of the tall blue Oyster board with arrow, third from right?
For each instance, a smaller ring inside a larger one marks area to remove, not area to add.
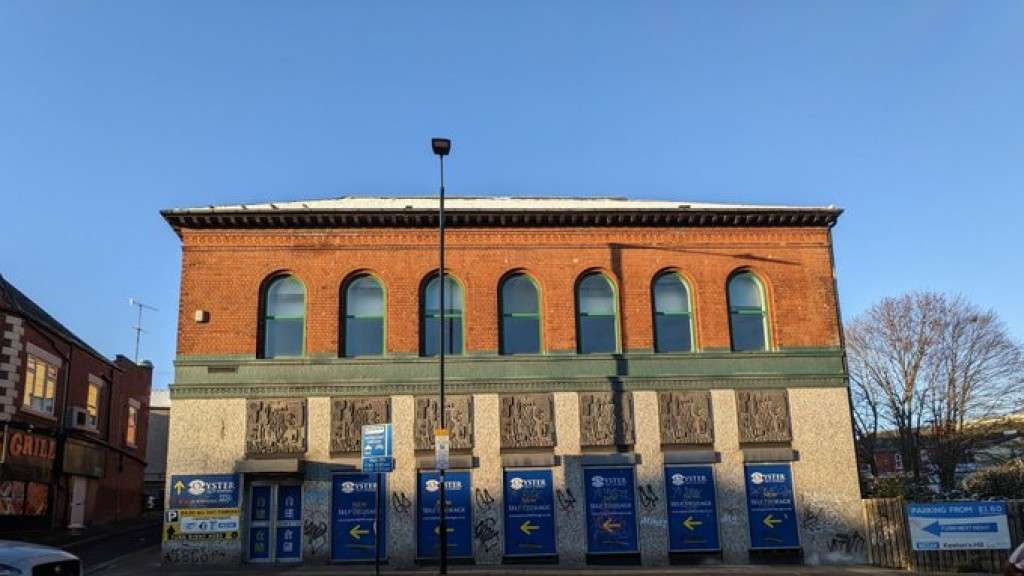
[[[633,466],[585,467],[583,477],[587,487],[587,551],[638,551]]]

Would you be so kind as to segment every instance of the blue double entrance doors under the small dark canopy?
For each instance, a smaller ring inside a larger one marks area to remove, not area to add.
[[[249,562],[302,562],[302,485],[254,482],[248,505]]]

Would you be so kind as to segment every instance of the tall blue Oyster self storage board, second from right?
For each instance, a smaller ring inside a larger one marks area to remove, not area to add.
[[[666,466],[669,549],[674,552],[721,549],[715,472],[711,466]]]

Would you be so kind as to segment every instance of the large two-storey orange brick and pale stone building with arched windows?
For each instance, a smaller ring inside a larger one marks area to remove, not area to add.
[[[216,482],[240,486],[241,508],[217,512],[241,530],[216,538],[170,526],[166,559],[365,562],[368,521],[351,519],[374,504],[353,498],[378,485],[359,472],[359,434],[391,422],[385,554],[435,561],[441,345],[454,558],[863,559],[841,210],[446,208],[443,306],[436,200],[163,212],[182,244],[169,503]]]

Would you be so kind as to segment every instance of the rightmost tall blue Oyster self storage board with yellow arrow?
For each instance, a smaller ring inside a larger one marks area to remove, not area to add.
[[[800,547],[790,464],[746,464],[743,468],[751,548]]]

